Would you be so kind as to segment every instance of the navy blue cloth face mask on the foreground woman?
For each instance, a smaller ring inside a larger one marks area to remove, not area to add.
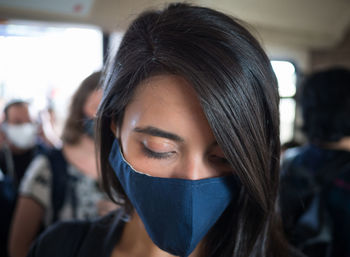
[[[152,241],[177,256],[191,254],[238,198],[239,184],[233,175],[187,180],[137,172],[124,159],[117,140],[109,162]]]

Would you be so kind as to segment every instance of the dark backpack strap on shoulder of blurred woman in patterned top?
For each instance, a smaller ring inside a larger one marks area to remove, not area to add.
[[[51,201],[53,206],[52,223],[54,223],[58,220],[58,214],[63,206],[67,189],[67,161],[61,149],[52,149],[46,153],[46,156],[49,159],[52,171]]]

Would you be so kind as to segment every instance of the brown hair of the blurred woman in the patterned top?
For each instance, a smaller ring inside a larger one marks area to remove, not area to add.
[[[76,144],[85,133],[84,122],[87,117],[84,114],[84,105],[91,93],[101,88],[100,78],[101,72],[92,73],[83,80],[77,91],[74,93],[69,108],[68,118],[63,128],[63,143],[72,145]]]

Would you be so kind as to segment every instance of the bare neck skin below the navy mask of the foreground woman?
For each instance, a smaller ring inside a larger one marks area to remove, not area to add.
[[[198,257],[197,247],[189,257]],[[121,241],[115,246],[114,256],[135,256],[135,257],[173,257],[160,249],[149,237],[142,220],[134,211],[130,221],[125,225]]]

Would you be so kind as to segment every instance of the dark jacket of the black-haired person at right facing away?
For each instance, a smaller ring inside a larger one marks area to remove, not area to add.
[[[316,223],[319,222],[316,219],[310,220],[313,216],[309,211],[312,210],[309,204],[315,199],[310,192],[320,192],[322,209],[319,211],[327,215],[324,220],[329,228],[330,252],[322,252],[320,247],[318,254],[304,252],[307,256],[350,256],[350,152],[306,145],[286,154],[280,199],[284,228],[290,241],[301,245],[305,243],[304,236],[311,235],[305,229],[303,233],[297,225],[302,218],[306,221],[307,213],[310,224],[321,224]]]

